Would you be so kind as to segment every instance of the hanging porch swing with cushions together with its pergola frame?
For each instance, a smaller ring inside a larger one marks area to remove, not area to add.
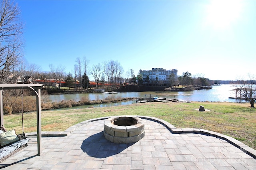
[[[0,162],[5,160],[6,158],[10,157],[12,154],[18,152],[19,150],[23,149],[24,147],[28,146],[26,136],[24,134],[24,106],[23,106],[23,89],[32,89],[36,93],[36,119],[37,119],[37,148],[38,154],[41,154],[41,99],[40,99],[40,89],[42,85],[30,85],[30,84],[0,84],[0,130],[6,135],[7,133],[14,137],[15,131],[6,131],[4,128],[4,108],[3,108],[3,90],[14,90],[14,89],[21,89],[22,90],[22,134],[18,134],[16,137],[16,141],[10,145],[6,145],[5,147],[0,149]],[[14,132],[14,134],[12,134]],[[0,134],[1,135],[1,134]],[[17,139],[18,138],[18,139]],[[12,148],[10,148],[12,147]]]

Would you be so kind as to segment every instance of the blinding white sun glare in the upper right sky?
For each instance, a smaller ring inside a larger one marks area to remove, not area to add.
[[[212,0],[206,10],[206,25],[214,29],[225,29],[238,20],[242,12],[242,1]]]

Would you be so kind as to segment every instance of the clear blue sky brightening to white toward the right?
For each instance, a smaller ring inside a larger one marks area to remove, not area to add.
[[[255,73],[254,0],[17,3],[25,24],[24,57],[42,71],[53,64],[73,73],[76,58],[86,56],[89,68],[117,60],[124,74],[162,67],[236,80]]]

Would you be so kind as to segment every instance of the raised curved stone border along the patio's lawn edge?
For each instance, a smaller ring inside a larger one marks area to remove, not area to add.
[[[123,116],[131,116],[131,115],[123,115]],[[162,120],[162,119],[158,119],[156,117],[149,117],[149,116],[138,116],[138,115],[132,115],[134,117],[139,117],[141,119],[147,119],[150,121],[154,121],[157,123],[162,124],[164,127],[166,127],[171,133],[174,134],[182,134],[182,133],[196,133],[196,134],[204,134],[204,135],[209,135],[209,136],[214,136],[216,138],[220,138],[223,140],[226,140],[227,142],[229,142],[230,144],[232,144],[233,146],[236,146],[237,148],[239,148],[240,150],[242,150],[243,152],[245,152],[246,154],[252,156],[254,159],[256,159],[256,150],[254,150],[253,148],[250,148],[249,146],[247,146],[246,144],[230,137],[224,134],[220,134],[218,132],[213,132],[210,130],[204,130],[201,128],[176,128],[174,127],[174,125]],[[81,123],[78,123],[74,126],[69,127],[68,129],[66,129],[64,132],[62,132],[62,134],[70,134],[72,133],[77,127],[80,127],[86,123],[90,123],[90,122],[94,122],[94,121],[100,121],[100,120],[104,120],[104,119],[108,119],[112,116],[109,117],[100,117],[100,118],[95,118],[95,119],[89,119],[86,121],[83,121]],[[103,125],[102,125],[103,126]]]

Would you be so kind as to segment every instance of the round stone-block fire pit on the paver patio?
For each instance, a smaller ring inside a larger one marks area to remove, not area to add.
[[[145,136],[144,124],[138,117],[110,117],[104,122],[104,136],[114,143],[138,142]]]

